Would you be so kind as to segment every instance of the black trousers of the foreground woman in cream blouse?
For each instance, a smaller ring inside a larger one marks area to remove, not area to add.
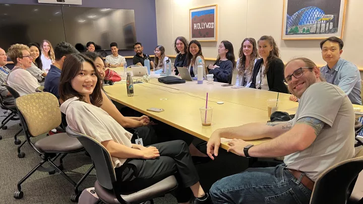
[[[148,137],[144,138],[144,146],[151,145],[148,143],[152,140]],[[152,146],[159,150],[160,157],[149,160],[128,159],[124,165],[115,168],[118,183],[116,190],[118,192],[141,190],[174,175],[178,187],[173,195],[178,202],[188,202],[192,195],[189,187],[199,181],[198,172],[189,153],[189,146],[181,140],[152,144]]]

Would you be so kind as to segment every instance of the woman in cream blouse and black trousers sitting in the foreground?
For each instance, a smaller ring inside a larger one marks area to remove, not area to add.
[[[132,144],[133,135],[102,110],[101,77],[93,61],[83,54],[67,56],[59,83],[69,127],[101,143],[111,155],[117,182],[116,192],[141,190],[176,174],[179,203],[209,203],[208,194],[199,183],[188,146],[183,141]],[[86,119],[85,119],[86,118]],[[132,178],[132,179],[131,179]]]

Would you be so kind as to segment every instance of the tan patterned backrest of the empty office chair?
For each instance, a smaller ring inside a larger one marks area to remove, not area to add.
[[[46,133],[61,124],[58,99],[51,93],[37,92],[15,99],[24,131],[31,137]]]

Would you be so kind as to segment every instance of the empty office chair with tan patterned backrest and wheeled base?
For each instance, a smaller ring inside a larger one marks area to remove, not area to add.
[[[33,101],[37,101],[34,103]],[[21,184],[28,179],[36,170],[49,172],[49,174],[59,172],[74,187],[75,194],[71,195],[72,201],[78,201],[81,191],[79,185],[93,170],[94,166],[86,172],[78,183],[73,181],[63,170],[63,158],[69,153],[78,153],[84,151],[82,144],[76,139],[71,138],[67,133],[56,133],[36,141],[34,144],[31,138],[44,134],[49,130],[61,124],[61,109],[59,108],[58,99],[51,93],[41,92],[21,96],[15,100],[20,120],[23,124],[26,141],[31,149],[41,158],[41,161],[35,166],[23,179],[18,183],[18,191],[14,193],[15,198],[22,198],[24,193]],[[62,155],[62,156],[61,156]],[[59,158],[59,166],[54,161]],[[44,168],[42,165],[48,162],[50,168]],[[55,169],[55,171],[54,171]]]

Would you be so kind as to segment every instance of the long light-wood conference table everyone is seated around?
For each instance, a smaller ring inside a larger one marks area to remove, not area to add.
[[[123,69],[113,69],[124,76]],[[128,70],[130,71],[130,70]],[[202,85],[197,82],[185,84],[166,85],[159,83],[159,75],[151,75],[148,83],[134,84],[134,96],[127,96],[126,81],[104,86],[104,90],[111,100],[128,106],[145,115],[188,132],[197,138],[208,141],[212,132],[218,128],[239,126],[250,122],[267,122],[270,120],[267,113],[267,99],[280,100],[278,111],[294,114],[298,103],[290,101],[289,94],[270,92],[265,90],[231,87],[222,87],[222,83],[213,85],[204,81]],[[143,77],[133,77],[135,81],[142,81]],[[212,125],[202,126],[200,107],[206,106],[206,93],[208,93],[208,107],[213,108]],[[223,102],[223,104],[217,104]],[[163,112],[148,111],[148,108],[162,108]],[[354,105],[354,107],[362,106]],[[254,145],[271,139],[249,141]],[[228,140],[222,139],[221,148],[227,150]]]

